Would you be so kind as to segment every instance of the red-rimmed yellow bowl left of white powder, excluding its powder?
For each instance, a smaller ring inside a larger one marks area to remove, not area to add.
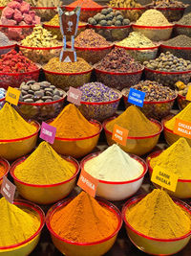
[[[11,176],[14,180],[14,184],[19,192],[19,194],[30,201],[33,201],[38,204],[50,204],[55,201],[58,201],[62,198],[66,198],[74,189],[76,175],[79,173],[79,164],[71,156],[62,156],[65,160],[71,162],[75,167],[75,173],[72,177],[62,182],[50,185],[37,185],[26,183],[14,175],[15,168],[23,163],[27,156],[24,156],[16,160],[11,165]],[[40,171],[39,171],[40,172]]]

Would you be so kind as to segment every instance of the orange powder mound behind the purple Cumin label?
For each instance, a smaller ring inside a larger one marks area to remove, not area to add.
[[[99,128],[92,125],[75,105],[67,105],[50,124],[56,128],[56,137],[83,138],[95,135]]]

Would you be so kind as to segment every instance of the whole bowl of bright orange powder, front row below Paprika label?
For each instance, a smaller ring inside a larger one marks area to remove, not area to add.
[[[101,256],[115,244],[122,220],[114,204],[81,192],[54,204],[46,224],[61,253]]]

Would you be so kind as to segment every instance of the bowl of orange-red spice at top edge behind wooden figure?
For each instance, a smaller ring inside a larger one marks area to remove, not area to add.
[[[90,17],[95,16],[97,12],[100,12],[105,8],[93,0],[76,0],[70,5],[65,6],[65,10],[74,11],[74,9],[78,6],[81,7],[79,19],[84,22],[87,22]]]

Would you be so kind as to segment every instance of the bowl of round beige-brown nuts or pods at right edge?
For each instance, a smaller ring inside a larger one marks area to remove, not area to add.
[[[188,83],[191,78],[191,62],[178,58],[170,52],[161,53],[159,58],[143,62],[145,77],[175,89],[177,81]]]

